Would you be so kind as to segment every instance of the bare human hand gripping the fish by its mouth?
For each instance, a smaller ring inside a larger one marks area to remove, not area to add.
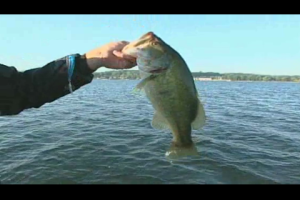
[[[111,42],[85,54],[87,64],[92,70],[100,67],[110,69],[129,69],[135,67],[136,58],[123,54],[122,49],[129,42]]]

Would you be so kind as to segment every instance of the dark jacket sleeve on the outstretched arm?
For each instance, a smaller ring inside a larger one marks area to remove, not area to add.
[[[75,54],[73,91],[93,80],[84,56]],[[40,68],[24,72],[0,64],[0,116],[16,115],[28,108],[39,108],[70,93],[67,56]]]

